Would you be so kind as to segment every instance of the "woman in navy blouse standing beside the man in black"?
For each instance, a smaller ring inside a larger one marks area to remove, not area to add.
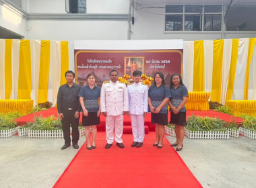
[[[86,126],[86,147],[88,150],[96,148],[96,125],[100,124],[100,87],[95,85],[95,75],[87,75],[88,85],[82,87],[79,92],[79,100],[82,106],[83,122]],[[90,127],[92,126],[92,145],[90,144]]]

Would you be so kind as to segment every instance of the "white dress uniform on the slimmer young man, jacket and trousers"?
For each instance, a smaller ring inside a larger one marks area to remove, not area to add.
[[[128,85],[129,113],[134,142],[143,142],[145,125],[143,113],[148,112],[148,86],[142,83]]]

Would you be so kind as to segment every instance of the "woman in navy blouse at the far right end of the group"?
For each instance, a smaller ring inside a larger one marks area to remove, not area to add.
[[[181,75],[173,74],[170,78],[170,93],[172,95],[168,105],[170,106],[170,124],[175,125],[176,142],[171,146],[178,146],[177,151],[183,148],[183,139],[185,136],[186,107],[188,91],[182,82]]]

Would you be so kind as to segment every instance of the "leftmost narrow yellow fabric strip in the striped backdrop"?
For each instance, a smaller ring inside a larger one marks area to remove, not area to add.
[[[12,50],[12,39],[5,40],[5,99],[11,97],[11,50]]]

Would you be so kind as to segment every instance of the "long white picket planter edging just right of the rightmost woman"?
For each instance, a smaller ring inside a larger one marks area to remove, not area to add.
[[[229,131],[190,131],[185,128],[185,135],[189,138],[199,139],[228,139]]]

